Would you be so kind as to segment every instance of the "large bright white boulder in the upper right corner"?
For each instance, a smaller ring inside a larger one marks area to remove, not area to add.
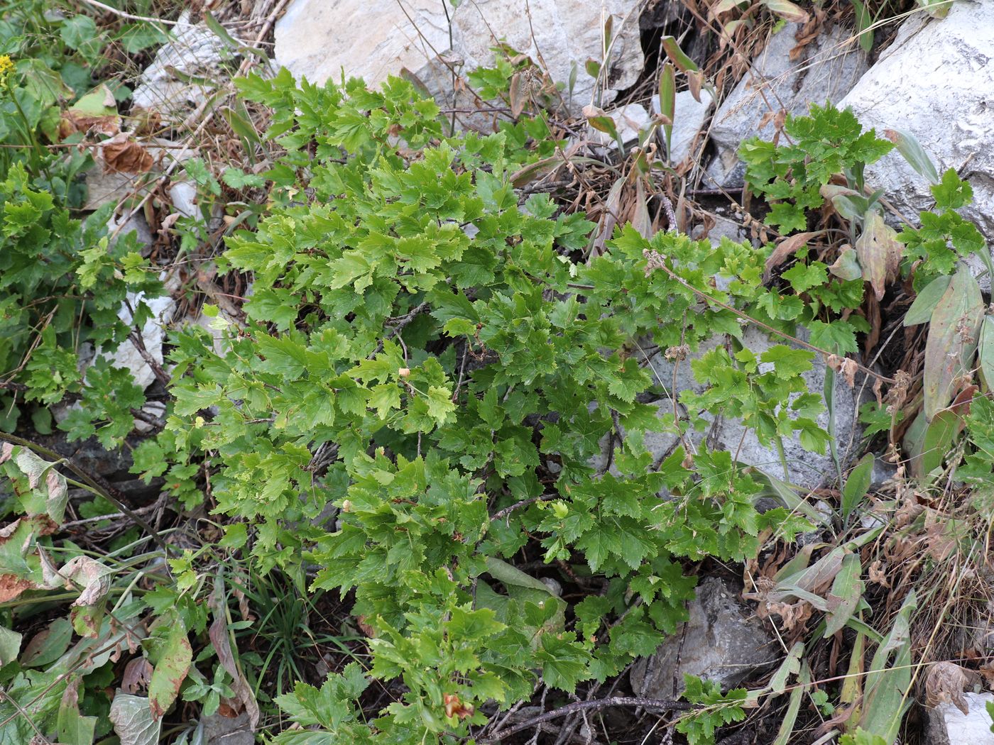
[[[944,19],[914,13],[894,44],[839,101],[866,127],[911,132],[941,173],[973,186],[962,214],[994,239],[994,3],[961,0]],[[892,152],[867,169],[868,183],[912,222],[934,204],[928,183]]]

